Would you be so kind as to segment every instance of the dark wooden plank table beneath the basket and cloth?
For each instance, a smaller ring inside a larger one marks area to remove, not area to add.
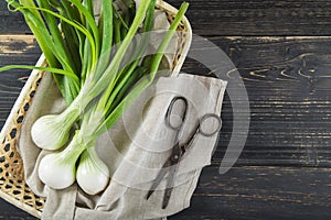
[[[189,2],[193,32],[222,48],[244,80],[250,127],[239,160],[220,175],[233,127],[226,94],[212,165],[203,169],[191,207],[169,219],[330,219],[331,1]],[[39,56],[21,15],[1,1],[0,66],[33,65]],[[183,70],[213,69],[188,61]],[[0,128],[29,73],[0,74]],[[1,200],[0,219],[33,218]]]

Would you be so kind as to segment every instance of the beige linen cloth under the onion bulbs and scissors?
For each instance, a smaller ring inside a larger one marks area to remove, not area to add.
[[[65,106],[51,75],[45,75],[18,143],[28,185],[36,195],[46,197],[42,219],[156,219],[189,207],[201,169],[211,162],[217,135],[199,135],[194,141],[180,163],[169,206],[162,209],[167,178],[149,200],[146,194],[174,144],[175,132],[164,124],[166,111],[174,96],[189,100],[184,142],[199,118],[205,113],[221,113],[225,88],[226,82],[216,78],[186,74],[160,77],[98,139],[97,152],[108,165],[111,179],[105,191],[88,196],[76,184],[63,190],[51,189],[38,176],[40,160],[49,152],[34,145],[31,125],[39,117],[58,113]]]

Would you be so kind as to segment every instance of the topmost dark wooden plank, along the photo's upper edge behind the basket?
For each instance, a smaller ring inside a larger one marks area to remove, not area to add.
[[[167,0],[180,7],[182,0]],[[330,35],[331,2],[189,0],[188,18],[195,34],[211,35]],[[0,34],[29,33],[20,13],[0,2]]]

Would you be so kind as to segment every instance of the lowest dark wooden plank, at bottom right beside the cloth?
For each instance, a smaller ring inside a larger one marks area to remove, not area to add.
[[[180,219],[330,219],[330,168],[205,167]]]

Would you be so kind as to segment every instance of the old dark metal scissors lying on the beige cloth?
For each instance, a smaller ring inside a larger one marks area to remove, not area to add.
[[[182,102],[183,105],[183,111],[181,116],[181,122],[175,124],[171,120],[171,116],[173,114],[173,107],[175,105],[179,105],[179,102]],[[148,200],[150,196],[156,191],[157,187],[161,183],[161,180],[164,178],[164,176],[169,173],[168,179],[167,179],[167,188],[164,191],[163,196],[163,201],[162,201],[162,209],[166,209],[168,207],[172,189],[173,189],[173,184],[174,184],[174,176],[179,167],[179,163],[181,162],[182,157],[184,154],[188,152],[188,150],[191,148],[194,140],[199,134],[203,136],[212,136],[215,133],[217,133],[222,127],[222,121],[221,118],[215,114],[215,113],[206,113],[204,114],[200,120],[194,130],[192,131],[192,134],[190,138],[185,141],[185,143],[180,144],[180,139],[183,132],[183,127],[186,120],[186,114],[188,114],[188,108],[189,108],[189,102],[186,98],[182,96],[174,97],[167,110],[164,120],[166,120],[166,125],[177,132],[175,134],[175,143],[172,147],[171,154],[168,157],[168,160],[164,162],[161,170],[159,172],[157,178],[154,179],[152,186],[150,187],[149,191],[146,195],[146,199]],[[207,120],[213,119],[213,121],[216,121],[216,127],[212,128],[211,130],[206,130],[207,125]]]

